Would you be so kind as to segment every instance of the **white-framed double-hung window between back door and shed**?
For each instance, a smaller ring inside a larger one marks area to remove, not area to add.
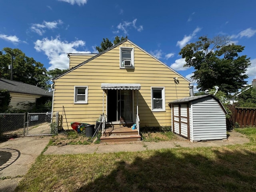
[[[164,87],[151,87],[151,110],[165,111]]]

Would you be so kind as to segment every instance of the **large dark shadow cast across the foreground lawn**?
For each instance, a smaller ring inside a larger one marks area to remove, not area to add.
[[[137,154],[132,163],[116,162],[109,174],[81,186],[76,192],[256,191],[254,152],[209,148],[202,148],[204,152],[195,150],[195,154],[178,151],[154,152],[147,159]]]

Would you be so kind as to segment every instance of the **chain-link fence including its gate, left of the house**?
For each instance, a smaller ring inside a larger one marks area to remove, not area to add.
[[[0,137],[58,133],[57,113],[0,114]]]

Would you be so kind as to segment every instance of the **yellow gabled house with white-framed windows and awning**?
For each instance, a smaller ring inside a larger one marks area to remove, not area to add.
[[[68,54],[70,68],[53,79],[53,111],[61,126],[111,124],[171,126],[168,102],[189,96],[190,81],[126,39],[99,54]],[[138,130],[139,133],[139,130]]]

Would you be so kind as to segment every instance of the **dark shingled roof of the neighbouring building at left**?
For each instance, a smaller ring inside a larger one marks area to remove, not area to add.
[[[24,94],[52,97],[52,93],[40,87],[26,84],[23,82],[11,81],[3,78],[0,79],[0,90],[2,89],[6,89],[9,92],[15,92],[15,93],[24,93]]]

